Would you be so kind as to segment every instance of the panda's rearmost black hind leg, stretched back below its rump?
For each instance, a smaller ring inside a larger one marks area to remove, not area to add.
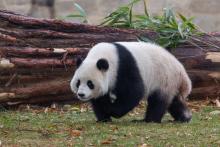
[[[186,106],[186,103],[178,96],[174,97],[168,111],[175,121],[189,122],[192,118],[192,113]]]

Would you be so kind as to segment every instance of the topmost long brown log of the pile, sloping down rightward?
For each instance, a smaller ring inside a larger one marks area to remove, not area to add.
[[[11,27],[11,28],[21,28],[25,27],[28,29],[47,29],[54,30],[59,32],[66,33],[118,33],[118,34],[131,34],[140,35],[140,34],[149,34],[155,35],[155,32],[150,30],[135,30],[135,29],[117,29],[111,27],[97,27],[87,24],[76,24],[71,22],[65,22],[62,20],[54,20],[54,19],[38,19],[32,18],[28,16],[24,16],[21,14],[17,14],[7,10],[0,10],[0,20],[2,23],[0,24],[1,28]]]

